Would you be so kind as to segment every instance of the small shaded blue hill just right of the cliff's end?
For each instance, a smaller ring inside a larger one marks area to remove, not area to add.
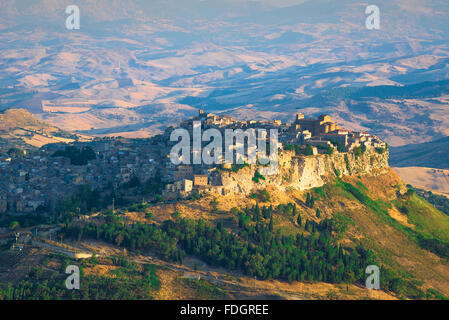
[[[392,147],[390,165],[449,169],[449,137],[432,142]]]

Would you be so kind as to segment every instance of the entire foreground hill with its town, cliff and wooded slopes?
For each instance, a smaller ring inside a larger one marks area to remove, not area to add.
[[[125,288],[134,279],[134,289],[121,291],[128,298],[142,290],[148,263],[162,268],[153,271],[155,286],[144,291],[162,299],[200,296],[178,295],[179,288],[191,288],[191,278],[218,288],[211,291],[215,298],[263,293],[324,299],[334,291],[340,298],[373,298],[360,284],[366,266],[375,264],[387,275],[377,298],[432,299],[449,292],[448,267],[441,262],[447,258],[447,216],[391,170],[381,139],[345,130],[327,115],[310,119],[300,113],[282,123],[200,111],[178,128],[190,131],[198,122],[218,132],[279,132],[277,172],[264,175],[261,163],[175,165],[173,127],[151,139],[94,138],[3,150],[0,260],[16,261],[13,268],[0,265],[4,283],[59,281],[48,270],[59,270],[69,258],[83,264],[87,277],[95,275],[92,281],[111,276]],[[41,260],[20,269],[36,255]],[[404,265],[404,259],[413,263]],[[142,268],[137,278],[134,265]],[[116,278],[116,268],[132,275]],[[402,272],[415,278],[402,278]],[[257,289],[242,285],[254,276]],[[49,288],[57,286],[52,283]],[[312,291],[304,293],[307,283]]]

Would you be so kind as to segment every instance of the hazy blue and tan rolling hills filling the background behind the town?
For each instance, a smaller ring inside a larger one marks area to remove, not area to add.
[[[1,109],[98,136],[152,136],[198,108],[328,113],[394,146],[449,134],[446,1],[377,1],[380,30],[357,1],[79,1],[79,30],[69,4],[1,2]]]

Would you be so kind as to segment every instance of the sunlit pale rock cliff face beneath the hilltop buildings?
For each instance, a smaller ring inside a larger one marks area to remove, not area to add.
[[[297,157],[292,151],[283,151],[279,155],[277,174],[264,176],[265,180],[253,181],[256,170],[261,168],[245,167],[238,172],[219,172],[218,184],[226,193],[249,194],[256,189],[275,186],[280,191],[288,189],[307,190],[321,187],[336,175],[341,176],[376,176],[387,173],[388,151],[379,153],[367,149],[356,156],[353,153],[337,153],[332,155],[316,155]]]

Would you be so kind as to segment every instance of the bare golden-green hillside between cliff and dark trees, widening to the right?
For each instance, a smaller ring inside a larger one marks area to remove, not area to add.
[[[446,296],[449,294],[446,276],[449,272],[449,218],[415,194],[407,193],[407,188],[393,171],[376,177],[336,179],[311,192],[279,191],[270,187],[265,190],[268,199],[231,194],[216,198],[217,213],[204,212],[207,208],[209,212],[211,210],[209,199],[180,203],[175,208],[160,206],[155,210],[160,213],[155,214],[154,219],[162,222],[176,210],[184,218],[196,220],[201,217],[213,223],[222,221],[225,226],[235,228],[232,226],[237,217],[233,208],[243,211],[256,204],[260,208],[276,208],[280,204],[295,203],[296,215],[275,211],[274,231],[279,230],[293,238],[309,232],[321,233],[319,228],[314,229],[307,222],[322,223],[331,219],[332,234],[345,250],[350,252],[351,248],[361,245],[375,252],[377,263],[385,268],[381,281],[386,292],[393,292],[398,297],[423,298],[426,291],[433,288]],[[316,199],[314,204],[307,204],[307,194]],[[298,214],[301,224],[297,221]],[[269,219],[262,220],[269,223]]]

